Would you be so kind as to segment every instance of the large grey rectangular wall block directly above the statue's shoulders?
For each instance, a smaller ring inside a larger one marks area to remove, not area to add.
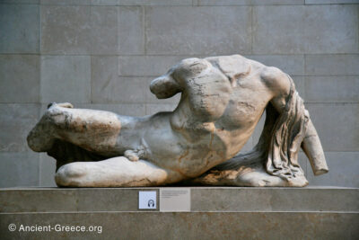
[[[147,7],[147,53],[194,56],[250,53],[250,14],[251,9],[246,6]]]

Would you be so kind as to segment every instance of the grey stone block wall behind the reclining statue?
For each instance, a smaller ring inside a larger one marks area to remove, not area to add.
[[[0,0],[0,187],[55,185],[55,160],[26,143],[48,102],[135,116],[171,111],[180,96],[157,100],[154,77],[182,58],[232,54],[293,77],[330,168],[314,177],[301,153],[310,184],[359,187],[357,3]]]

